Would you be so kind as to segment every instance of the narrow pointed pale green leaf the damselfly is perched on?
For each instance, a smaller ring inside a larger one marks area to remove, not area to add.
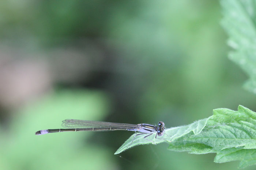
[[[207,120],[210,118],[198,120],[186,126],[179,126],[179,127],[166,129],[165,134],[161,137],[163,139],[155,138],[157,134],[156,132],[148,136],[146,139],[144,138],[146,135],[138,135],[134,138],[135,134],[133,134],[127,141],[124,142],[124,144],[114,154],[120,154],[121,152],[137,145],[146,145],[146,144],[157,145],[158,143],[162,143],[162,142],[172,142],[173,140],[178,139],[190,133],[191,131],[193,132],[193,134],[199,134],[203,130],[204,126],[206,125]]]

